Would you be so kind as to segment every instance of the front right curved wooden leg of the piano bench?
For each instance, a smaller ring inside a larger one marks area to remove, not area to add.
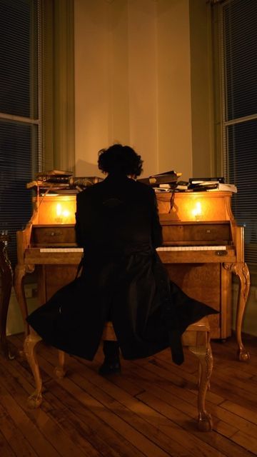
[[[206,346],[189,346],[189,351],[195,354],[199,359],[199,380],[198,380],[198,428],[201,431],[212,430],[211,414],[207,413],[205,408],[206,392],[210,385],[211,372],[213,369],[213,355],[211,345]]]

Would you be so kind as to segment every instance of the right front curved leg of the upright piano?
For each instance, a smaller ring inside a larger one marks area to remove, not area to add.
[[[239,278],[239,291],[238,291],[238,301],[236,306],[236,341],[238,343],[238,358],[240,361],[248,361],[250,359],[250,354],[243,346],[242,342],[242,322],[243,314],[246,308],[246,301],[248,298],[249,288],[250,288],[250,273],[248,266],[245,262],[238,263],[224,263],[223,267],[226,270],[231,271],[236,274]]]

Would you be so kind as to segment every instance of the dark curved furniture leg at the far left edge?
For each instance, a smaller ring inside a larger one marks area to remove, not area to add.
[[[0,241],[0,273],[1,273],[1,288],[0,288],[0,349],[6,358],[12,359],[9,351],[9,346],[6,339],[6,321],[11,297],[11,286],[13,283],[13,272],[11,263],[6,251],[6,245]]]

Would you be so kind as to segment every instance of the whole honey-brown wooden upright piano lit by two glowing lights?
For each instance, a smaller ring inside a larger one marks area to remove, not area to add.
[[[243,227],[236,225],[231,211],[231,192],[160,192],[156,196],[163,227],[158,255],[173,282],[220,311],[210,316],[212,338],[231,336],[232,273],[238,277],[238,358],[248,360],[241,327],[250,276],[244,261]],[[31,221],[17,232],[14,288],[26,333],[26,273],[36,270],[39,304],[76,276],[82,249],[76,246],[75,211],[76,195],[37,196]]]

